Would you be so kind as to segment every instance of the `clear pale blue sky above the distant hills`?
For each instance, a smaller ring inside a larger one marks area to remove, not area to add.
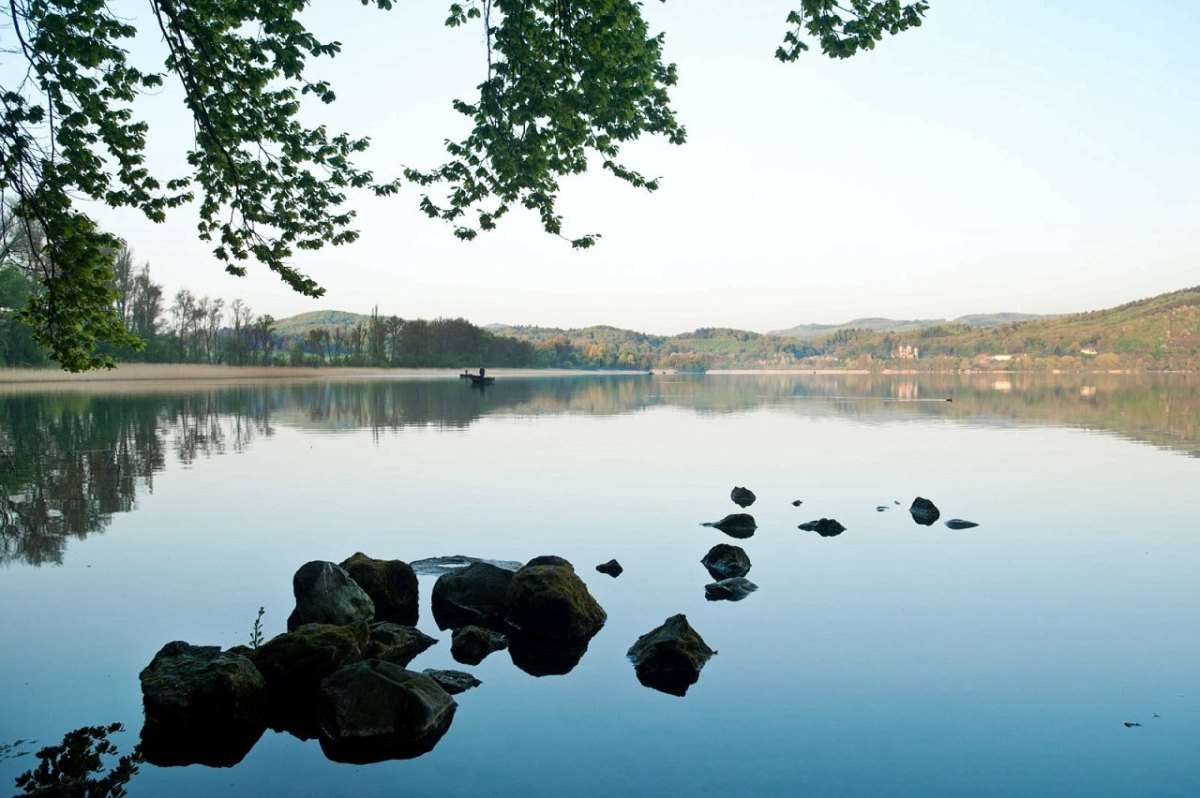
[[[193,209],[163,224],[97,217],[168,296],[240,298],[276,318],[378,306],[480,325],[764,332],[1087,311],[1200,284],[1200,4],[930,5],[922,28],[872,52],[784,65],[786,0],[647,2],[689,140],[625,148],[628,166],[661,178],[654,193],[599,170],[564,181],[564,233],[602,235],[588,251],[532,212],[462,242],[418,210],[416,186],[354,194],[360,239],[294,259],[326,288],[313,300],[262,266],[226,275]],[[338,95],[314,119],[370,136],[362,163],[378,178],[439,163],[466,132],[450,103],[484,78],[482,34],[444,28],[446,7],[318,0],[305,17],[343,44],[311,64]],[[128,13],[144,22],[144,4]],[[149,32],[131,49],[162,58]],[[138,112],[151,167],[182,173],[192,128],[178,89]]]

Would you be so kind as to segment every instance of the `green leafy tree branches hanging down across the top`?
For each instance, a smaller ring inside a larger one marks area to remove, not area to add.
[[[361,0],[380,10],[391,0]],[[806,38],[833,58],[869,49],[884,34],[920,24],[926,2],[797,0],[776,58],[794,60]],[[164,48],[161,72],[143,72],[125,49],[137,32],[103,0],[11,0],[0,47],[16,54],[16,83],[0,85],[0,192],[38,246],[22,262],[38,290],[22,313],[66,368],[110,366],[97,342],[137,346],[115,305],[120,241],[89,216],[89,203],[133,208],[161,221],[184,203],[199,209],[198,234],[227,271],[266,265],[294,290],[323,289],[290,265],[298,250],[356,238],[350,190],[395,193],[354,157],[366,138],[300,119],[305,102],[331,103],[332,88],[310,76],[331,58],[300,19],[307,0],[151,0],[150,24]],[[461,239],[496,227],[514,206],[533,210],[562,235],[559,180],[599,163],[635,187],[654,179],[620,162],[642,134],[682,144],[671,108],[676,67],[662,60],[634,0],[469,0],[446,25],[481,25],[487,77],[455,108],[473,122],[448,142],[445,163],[408,169],[426,190],[421,209]],[[13,74],[13,72],[10,72]],[[194,122],[188,173],[172,179],[145,166],[148,125],[139,95],[178,82]],[[570,239],[590,246],[598,236]]]

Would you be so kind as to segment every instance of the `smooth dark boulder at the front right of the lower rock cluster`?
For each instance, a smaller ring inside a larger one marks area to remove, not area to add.
[[[355,764],[420,756],[450,728],[456,708],[424,673],[382,660],[355,662],[320,683],[322,750]]]

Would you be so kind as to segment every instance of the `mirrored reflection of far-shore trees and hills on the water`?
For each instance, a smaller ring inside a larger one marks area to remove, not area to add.
[[[1198,386],[1188,376],[1147,374],[718,374],[500,378],[486,392],[458,379],[16,392],[0,396],[0,563],[61,563],[70,539],[102,532],[114,514],[132,510],[168,458],[186,466],[236,454],[280,425],[379,436],[466,428],[488,415],[773,407],[864,422],[1082,427],[1200,456]]]

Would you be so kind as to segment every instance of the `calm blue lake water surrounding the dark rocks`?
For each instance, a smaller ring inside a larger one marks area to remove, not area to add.
[[[608,619],[569,673],[466,667],[421,576],[409,667],[482,682],[432,751],[268,731],[131,796],[1200,794],[1195,377],[497,377],[0,386],[0,785],[79,726],[130,751],[164,643],[280,634],[296,569],[361,551],[558,554]],[[745,540],[701,526],[734,486]],[[625,656],[676,613],[719,652],[684,697]]]

